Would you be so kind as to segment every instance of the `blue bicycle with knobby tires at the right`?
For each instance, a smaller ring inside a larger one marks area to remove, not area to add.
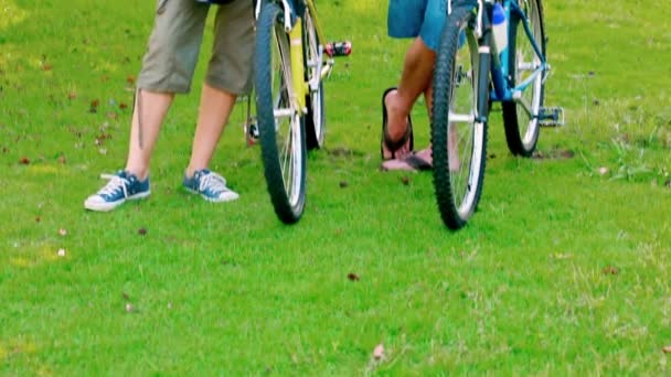
[[[546,42],[541,0],[448,0],[432,149],[438,208],[450,229],[464,227],[480,201],[492,103],[501,103],[515,155],[532,155],[541,126],[563,125],[562,108],[544,107]]]

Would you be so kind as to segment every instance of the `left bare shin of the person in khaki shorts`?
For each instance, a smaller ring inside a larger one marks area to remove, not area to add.
[[[126,171],[143,181],[149,175],[151,153],[159,137],[166,114],[172,104],[174,94],[138,90],[130,127],[130,141]],[[140,114],[141,110],[141,114]],[[140,147],[139,117],[142,117],[142,144]]]

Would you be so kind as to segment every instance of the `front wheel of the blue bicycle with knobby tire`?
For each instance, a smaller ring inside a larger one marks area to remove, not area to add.
[[[478,89],[480,62],[473,22],[470,7],[452,10],[434,73],[434,187],[443,222],[455,230],[476,211],[484,174],[487,122],[477,119],[487,119],[487,114],[478,114],[478,104],[487,104],[489,93]],[[488,75],[488,68],[483,66],[482,74]]]

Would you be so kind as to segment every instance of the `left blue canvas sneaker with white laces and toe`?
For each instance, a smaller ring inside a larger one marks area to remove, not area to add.
[[[149,196],[149,179],[139,181],[134,174],[120,171],[114,175],[103,174],[104,180],[109,180],[105,187],[100,188],[84,202],[84,208],[90,211],[108,212],[126,201],[140,200]]]

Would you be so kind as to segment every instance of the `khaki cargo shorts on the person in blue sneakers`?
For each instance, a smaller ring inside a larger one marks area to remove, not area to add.
[[[216,11],[216,18],[205,82],[236,95],[251,91],[255,41],[251,0],[212,7],[194,0],[158,0],[138,88],[159,93],[191,90],[210,9]]]

